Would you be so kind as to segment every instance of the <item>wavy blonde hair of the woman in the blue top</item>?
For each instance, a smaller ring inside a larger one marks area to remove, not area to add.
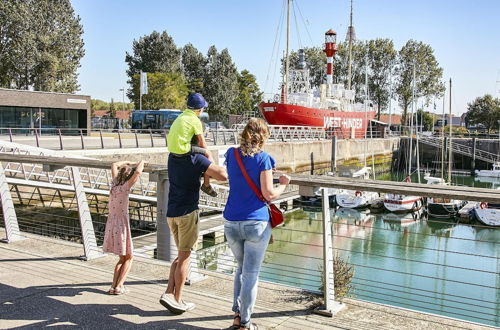
[[[260,118],[250,118],[241,133],[240,148],[243,156],[253,157],[259,153],[269,138],[269,127]]]

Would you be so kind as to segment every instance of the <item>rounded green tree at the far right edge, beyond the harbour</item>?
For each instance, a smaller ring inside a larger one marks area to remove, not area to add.
[[[490,132],[491,129],[498,127],[499,120],[500,99],[486,94],[467,104],[467,113],[465,115],[467,124],[482,124]]]

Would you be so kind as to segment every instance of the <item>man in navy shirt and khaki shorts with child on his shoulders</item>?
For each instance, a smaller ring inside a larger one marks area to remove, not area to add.
[[[199,116],[208,106],[199,93],[190,94],[188,109],[173,122],[167,136],[169,149],[167,222],[178,249],[178,256],[172,262],[168,286],[160,303],[175,314],[192,310],[195,305],[182,300],[182,290],[187,278],[189,257],[198,239],[200,179],[204,176],[201,190],[217,196],[209,178],[226,181],[224,167],[213,164],[203,137],[203,125]],[[197,146],[191,141],[196,140]]]

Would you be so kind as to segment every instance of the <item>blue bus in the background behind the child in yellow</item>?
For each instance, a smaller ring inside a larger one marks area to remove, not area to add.
[[[182,113],[177,109],[134,110],[132,111],[133,129],[164,130],[172,126],[174,120]],[[208,123],[208,114],[203,112],[200,120],[205,126]]]

